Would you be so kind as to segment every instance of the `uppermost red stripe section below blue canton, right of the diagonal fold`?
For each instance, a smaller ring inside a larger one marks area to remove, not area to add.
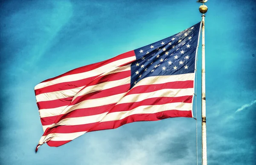
[[[163,84],[137,86],[132,88],[126,95],[138,94],[138,93],[149,93],[149,92],[154,92],[154,91],[163,90],[163,89],[186,89],[186,88],[193,88],[193,87],[194,87],[194,81],[190,81],[190,80],[174,81],[174,82],[168,82]]]

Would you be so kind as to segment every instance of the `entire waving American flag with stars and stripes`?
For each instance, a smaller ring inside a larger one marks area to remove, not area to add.
[[[138,121],[193,117],[201,22],[171,37],[35,86],[45,142],[58,147],[86,132]]]

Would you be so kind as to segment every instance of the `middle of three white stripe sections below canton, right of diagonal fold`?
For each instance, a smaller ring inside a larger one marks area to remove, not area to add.
[[[194,93],[194,88],[186,89],[163,89],[157,90],[149,93],[138,93],[124,96],[117,104],[131,103],[143,101],[146,98],[156,98],[156,97],[180,97],[180,96],[192,96]]]

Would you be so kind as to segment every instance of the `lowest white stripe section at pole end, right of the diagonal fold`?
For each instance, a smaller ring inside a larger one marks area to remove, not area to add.
[[[108,113],[102,119],[101,122],[121,120],[134,114],[157,113],[157,112],[162,112],[166,110],[191,110],[191,109],[192,109],[192,103],[176,102],[176,103],[169,103],[169,104],[162,104],[162,105],[144,105],[144,106],[136,107],[133,110]]]

